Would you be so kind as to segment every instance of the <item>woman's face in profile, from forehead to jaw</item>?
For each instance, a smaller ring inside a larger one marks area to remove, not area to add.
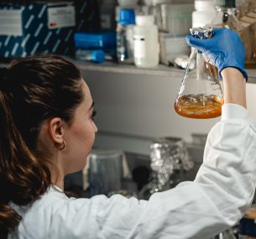
[[[84,99],[81,105],[76,108],[75,117],[71,125],[65,129],[65,174],[71,174],[83,169],[86,166],[86,159],[91,153],[94,143],[97,126],[92,119],[93,101],[91,92],[82,81]]]

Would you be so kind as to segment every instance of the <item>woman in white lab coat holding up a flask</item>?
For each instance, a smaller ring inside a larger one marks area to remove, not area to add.
[[[206,239],[243,216],[256,181],[243,44],[223,29],[212,39],[187,41],[219,69],[222,121],[209,133],[195,181],[149,201],[121,195],[75,200],[63,193],[64,176],[83,169],[97,133],[91,94],[76,66],[39,55],[1,70],[1,238]]]

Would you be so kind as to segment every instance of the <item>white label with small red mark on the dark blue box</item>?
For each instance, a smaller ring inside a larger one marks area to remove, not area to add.
[[[74,6],[48,8],[48,28],[70,28],[76,26],[76,12]]]

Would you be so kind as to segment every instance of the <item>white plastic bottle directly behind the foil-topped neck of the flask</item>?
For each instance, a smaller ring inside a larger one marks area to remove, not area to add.
[[[217,18],[212,0],[196,0],[195,9],[192,13],[192,28],[204,28]]]

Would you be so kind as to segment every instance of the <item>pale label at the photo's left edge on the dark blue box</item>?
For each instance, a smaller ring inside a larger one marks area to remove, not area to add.
[[[0,35],[22,36],[22,10],[0,10]]]

